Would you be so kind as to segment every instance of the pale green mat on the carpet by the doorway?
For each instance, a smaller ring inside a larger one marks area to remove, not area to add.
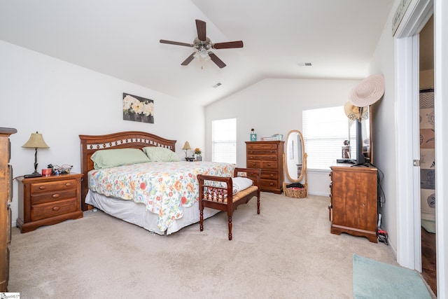
[[[354,298],[431,299],[420,275],[414,270],[353,254]]]

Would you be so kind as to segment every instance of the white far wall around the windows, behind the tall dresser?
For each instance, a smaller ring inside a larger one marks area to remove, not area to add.
[[[358,80],[265,79],[205,109],[207,151],[211,152],[211,121],[237,118],[237,165],[246,166],[246,144],[251,128],[257,137],[302,131],[302,110],[342,106]],[[341,113],[344,113],[341,109]],[[305,151],[306,151],[305,144]],[[312,153],[308,153],[312,155]],[[309,193],[328,195],[328,172],[309,171]]]

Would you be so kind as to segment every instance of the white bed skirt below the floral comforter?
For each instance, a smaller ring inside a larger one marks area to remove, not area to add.
[[[183,217],[172,221],[166,231],[159,230],[157,227],[158,215],[146,211],[145,204],[133,202],[132,200],[118,200],[104,195],[87,192],[85,203],[104,211],[106,214],[120,218],[129,223],[139,225],[146,230],[155,232],[159,235],[170,235],[190,224],[200,221],[199,202],[188,207],[183,212]],[[204,219],[214,216],[219,211],[216,209],[204,208]]]

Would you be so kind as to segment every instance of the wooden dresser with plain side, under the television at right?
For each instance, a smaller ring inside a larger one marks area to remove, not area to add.
[[[330,232],[336,235],[346,232],[377,243],[377,169],[330,168]]]

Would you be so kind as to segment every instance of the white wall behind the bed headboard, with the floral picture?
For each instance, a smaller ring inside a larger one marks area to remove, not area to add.
[[[181,158],[186,140],[193,148],[204,148],[202,106],[3,41],[0,66],[0,127],[18,130],[10,137],[14,176],[34,171],[34,150],[21,146],[36,131],[50,146],[38,150],[39,172],[50,163],[73,165],[72,172],[80,172],[79,134],[150,132],[176,139]],[[154,100],[154,124],[123,120],[123,92]],[[17,185],[11,204],[13,225],[18,217]]]

